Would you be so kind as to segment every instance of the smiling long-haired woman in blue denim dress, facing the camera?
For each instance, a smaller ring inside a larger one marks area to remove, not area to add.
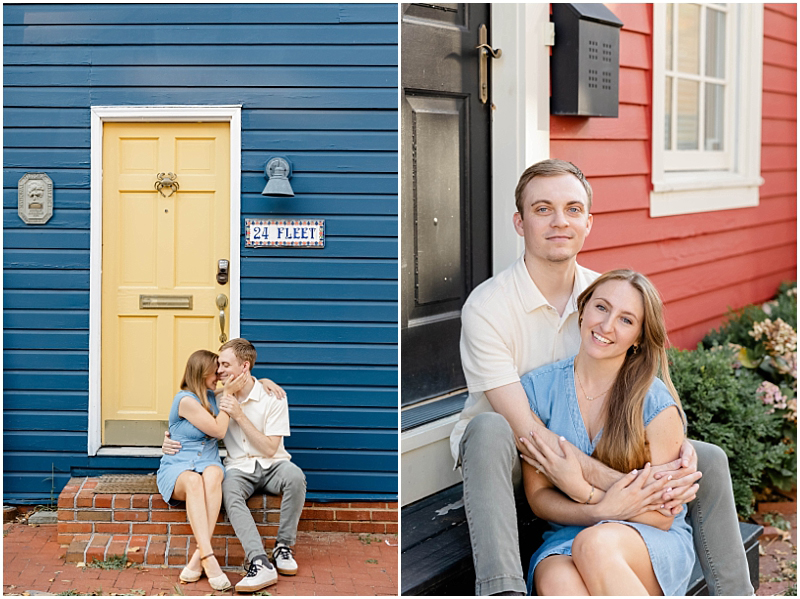
[[[528,590],[683,595],[695,559],[691,529],[685,511],[672,516],[660,504],[668,478],[650,476],[651,463],[678,458],[685,433],[661,299],[644,275],[611,271],[581,294],[578,313],[578,355],[522,377],[531,409],[561,436],[561,451],[521,439],[535,457],[523,462],[528,502],[551,524],[531,558]],[[596,488],[576,448],[627,474]]]

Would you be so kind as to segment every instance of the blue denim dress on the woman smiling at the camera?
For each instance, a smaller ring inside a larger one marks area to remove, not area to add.
[[[573,364],[575,357],[543,366],[523,375],[521,382],[528,396],[528,403],[544,425],[557,435],[563,436],[586,455],[592,455],[603,434],[601,430],[594,440],[583,423],[578,398],[575,395]],[[655,379],[644,401],[645,427],[663,410],[677,405],[666,385]],[[650,554],[650,562],[658,584],[664,595],[685,595],[695,560],[692,529],[686,522],[686,510],[675,516],[669,530],[661,530],[647,524],[620,520],[635,528],[644,540]],[[602,522],[598,522],[602,524]],[[562,526],[550,523],[544,533],[543,543],[531,557],[528,570],[528,593],[533,590],[533,572],[544,558],[551,555],[572,555],[572,541],[585,527]]]

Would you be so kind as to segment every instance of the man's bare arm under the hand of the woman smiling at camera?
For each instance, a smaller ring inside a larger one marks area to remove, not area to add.
[[[530,439],[530,434],[536,431],[553,451],[563,455],[559,447],[558,435],[547,430],[542,421],[531,411],[522,383],[516,382],[490,389],[486,391],[486,399],[489,400],[492,409],[501,414],[511,425],[517,449],[521,453],[532,458],[528,449],[520,443],[519,439],[520,437]],[[576,456],[581,464],[583,477],[589,484],[595,485],[599,489],[608,490],[623,476],[621,472],[612,470],[581,451],[576,451]]]

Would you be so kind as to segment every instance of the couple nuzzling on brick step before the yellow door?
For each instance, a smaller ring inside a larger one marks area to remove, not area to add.
[[[219,356],[198,350],[189,356],[181,391],[172,401],[169,431],[158,469],[161,496],[171,506],[185,503],[197,550],[180,574],[195,582],[203,574],[214,590],[230,588],[211,548],[220,503],[241,541],[250,566],[237,585],[255,592],[278,581],[279,573],[294,575],[297,563],[292,546],[306,495],[303,472],[283,447],[289,435],[286,394],[269,379],[257,381],[250,373],[256,349],[246,339],[231,339]],[[224,386],[217,389],[217,382]],[[225,439],[225,467],[218,439]],[[280,526],[272,559],[267,558],[247,500],[254,493],[282,495]]]

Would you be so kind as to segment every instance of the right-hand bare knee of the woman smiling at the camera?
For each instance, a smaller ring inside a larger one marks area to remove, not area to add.
[[[572,559],[592,595],[663,595],[644,540],[626,524],[582,530],[572,543]]]

